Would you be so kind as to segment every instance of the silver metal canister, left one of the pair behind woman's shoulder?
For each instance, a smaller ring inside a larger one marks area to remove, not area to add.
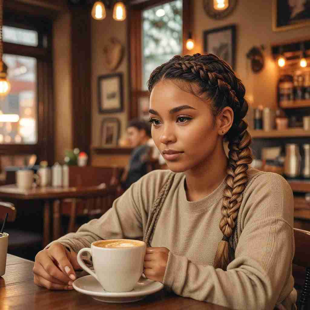
[[[301,156],[298,144],[285,145],[284,174],[289,178],[297,178],[300,175]]]

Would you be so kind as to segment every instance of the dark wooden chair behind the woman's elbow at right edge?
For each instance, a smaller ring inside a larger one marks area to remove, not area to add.
[[[294,239],[295,255],[293,259],[293,264],[306,268],[306,276],[300,295],[299,305],[297,308],[298,310],[307,310],[310,295],[310,232],[294,228]]]

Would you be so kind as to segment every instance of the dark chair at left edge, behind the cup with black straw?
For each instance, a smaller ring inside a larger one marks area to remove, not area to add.
[[[0,201],[0,223],[2,226],[6,214],[7,222],[14,222],[16,209],[13,203]],[[42,236],[31,231],[20,230],[15,227],[4,228],[9,234],[8,253],[24,258],[34,259],[34,255],[42,248]]]

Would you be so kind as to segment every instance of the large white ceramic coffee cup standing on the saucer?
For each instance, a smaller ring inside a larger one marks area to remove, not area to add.
[[[144,265],[146,243],[139,240],[113,239],[106,241],[134,241],[138,246],[104,248],[96,244],[104,241],[95,241],[91,248],[83,248],[78,252],[78,263],[86,272],[95,277],[104,290],[108,292],[129,292],[139,281]],[[94,271],[88,268],[81,256],[89,253],[92,257]]]

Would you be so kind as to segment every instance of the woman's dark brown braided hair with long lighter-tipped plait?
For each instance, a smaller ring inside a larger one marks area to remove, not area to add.
[[[253,160],[250,148],[251,136],[247,131],[248,125],[243,120],[248,111],[248,103],[244,98],[245,87],[231,67],[213,54],[174,56],[151,73],[148,80],[149,93],[157,82],[165,79],[173,80],[181,88],[182,86],[184,88],[184,83],[180,82],[184,81],[198,85],[198,90],[194,91],[189,87],[186,91],[206,102],[211,102],[214,126],[216,116],[224,107],[229,106],[234,112],[232,126],[224,135],[224,141],[228,142],[229,158],[221,209],[222,218],[219,223],[223,239],[218,244],[213,262],[215,268],[226,270],[234,259],[229,238],[236,226],[243,191],[248,182],[246,171]]]

